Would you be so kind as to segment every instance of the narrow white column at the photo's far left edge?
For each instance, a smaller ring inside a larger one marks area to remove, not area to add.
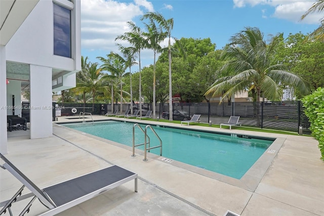
[[[6,47],[0,45],[0,152],[7,154],[7,69]]]

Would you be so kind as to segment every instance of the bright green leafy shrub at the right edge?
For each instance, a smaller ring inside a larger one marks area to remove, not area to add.
[[[317,88],[312,94],[305,96],[302,102],[312,135],[318,140],[320,159],[324,161],[324,88]]]

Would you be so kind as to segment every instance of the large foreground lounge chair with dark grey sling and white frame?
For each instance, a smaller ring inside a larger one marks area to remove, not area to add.
[[[0,203],[0,207],[4,206],[0,210],[0,214],[8,210],[10,215],[12,215],[11,207],[14,202],[33,197],[19,215],[24,215],[24,213],[28,212],[36,198],[49,209],[41,215],[54,215],[132,179],[135,179],[135,192],[137,192],[137,174],[116,165],[39,189],[5,156],[0,154],[0,157],[5,162],[0,167],[7,169],[23,184],[10,200]],[[24,187],[27,187],[31,193],[21,195]]]

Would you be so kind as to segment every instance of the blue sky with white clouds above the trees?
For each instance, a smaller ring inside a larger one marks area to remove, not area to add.
[[[222,49],[235,33],[245,27],[259,27],[268,34],[283,32],[309,33],[319,26],[323,14],[312,14],[304,21],[300,17],[315,1],[311,0],[134,0],[81,1],[82,55],[91,62],[101,63],[96,57],[118,52],[114,39],[130,31],[127,21],[143,27],[139,18],[146,12],[158,12],[174,18],[172,35],[175,38],[210,38],[216,49]],[[128,46],[126,42],[120,42]],[[162,46],[167,45],[163,43]],[[141,65],[153,64],[153,52],[144,50]],[[132,68],[135,72],[138,66]]]

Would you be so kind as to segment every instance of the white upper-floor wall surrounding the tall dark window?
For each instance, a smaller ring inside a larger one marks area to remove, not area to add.
[[[79,7],[79,1],[75,1],[74,5]],[[74,18],[73,20],[75,21]],[[72,29],[72,38],[73,35],[80,38],[79,31]],[[80,62],[80,52],[75,52],[76,49],[80,50],[80,42],[72,39],[72,58],[54,55],[53,32],[53,2],[41,0],[8,42],[7,60],[70,71],[79,70],[80,64],[74,59]]]

